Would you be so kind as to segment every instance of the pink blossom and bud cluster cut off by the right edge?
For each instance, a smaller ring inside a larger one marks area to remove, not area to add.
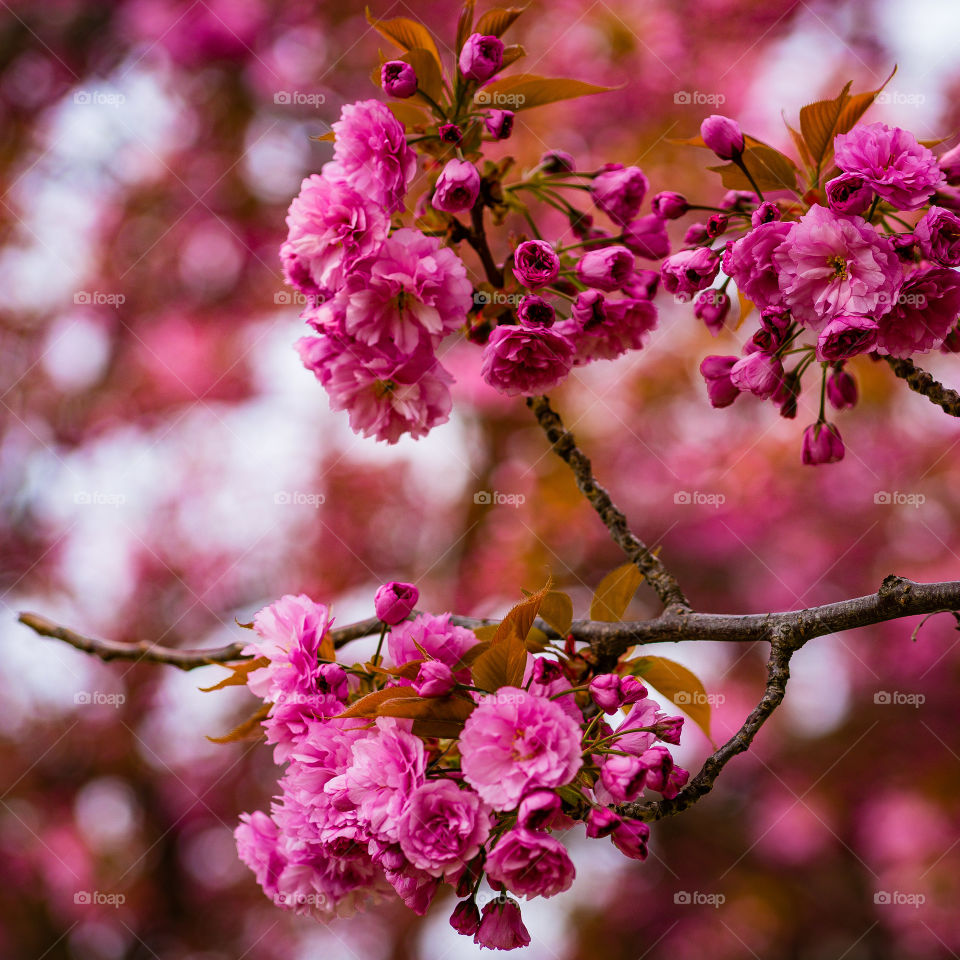
[[[701,137],[743,165],[750,141],[735,121],[708,117]],[[803,376],[819,364],[820,412],[803,435],[807,464],[844,455],[826,411],[828,402],[836,410],[857,402],[847,361],[960,349],[960,194],[951,189],[960,184],[960,148],[938,160],[906,130],[860,123],[835,136],[833,163],[822,188],[802,198],[730,191],[661,265],[665,289],[693,300],[714,334],[731,308],[731,282],[757,307],[742,355],[709,356],[700,366],[713,406],[750,394],[795,417]],[[653,202],[669,218],[691,209],[677,193]]]

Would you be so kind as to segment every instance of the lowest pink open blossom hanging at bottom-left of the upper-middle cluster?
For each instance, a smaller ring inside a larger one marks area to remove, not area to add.
[[[450,416],[453,377],[427,347],[404,356],[335,336],[303,337],[296,347],[356,433],[396,443],[405,433],[425,437]]]

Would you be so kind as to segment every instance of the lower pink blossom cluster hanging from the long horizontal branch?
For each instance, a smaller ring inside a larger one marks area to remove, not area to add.
[[[649,828],[618,805],[676,796],[688,774],[667,744],[683,721],[627,670],[596,675],[571,642],[526,653],[518,685],[483,689],[471,665],[491,642],[416,613],[417,599],[410,584],[378,591],[367,663],[323,656],[332,619],[306,596],[257,614],[247,682],[285,769],[270,812],[241,817],[238,851],[285,909],[329,920],[399,897],[422,915],[447,884],[459,933],[524,946],[516,898],[570,887],[563,840],[578,822],[646,857]]]

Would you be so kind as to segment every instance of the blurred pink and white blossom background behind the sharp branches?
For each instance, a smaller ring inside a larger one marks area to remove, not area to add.
[[[388,449],[328,410],[292,349],[286,207],[329,158],[310,137],[376,95],[384,41],[352,4],[0,6],[0,956],[472,956],[443,906],[324,928],[263,898],[231,831],[275,770],[256,744],[204,739],[249,712],[244,690],[198,692],[222,671],[105,665],[16,623],[31,609],[200,647],[238,639],[235,618],[281,593],[346,623],[372,614],[381,582],[409,580],[425,608],[494,615],[548,571],[582,615],[618,562],[523,404],[479,380],[476,351],[445,358],[451,421]],[[373,12],[455,30],[439,0]],[[781,109],[795,118],[849,79],[872,89],[896,63],[868,119],[953,135],[958,31],[950,0],[541,0],[516,28],[540,51],[524,70],[624,86],[518,114],[502,150],[636,163],[654,191],[716,202],[702,153],[669,139],[711,113],[788,148]],[[661,309],[642,353],[577,368],[557,396],[696,607],[801,607],[894,571],[956,577],[953,422],[860,358],[847,458],[801,470],[793,424],[706,401],[699,360],[736,352],[738,334],[714,344],[688,309]],[[960,383],[953,355],[931,369]],[[960,952],[960,651],[951,618],[916,642],[913,626],[805,648],[783,710],[714,795],[654,827],[647,863],[574,843],[578,879],[525,908],[524,954]],[[719,646],[670,651],[723,694],[718,740],[762,682],[759,650]],[[695,768],[709,744],[686,739],[678,761]]]

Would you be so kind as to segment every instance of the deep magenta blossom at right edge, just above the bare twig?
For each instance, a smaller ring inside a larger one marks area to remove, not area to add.
[[[900,288],[894,308],[880,317],[877,350],[908,357],[939,346],[960,315],[960,273],[931,267]]]

